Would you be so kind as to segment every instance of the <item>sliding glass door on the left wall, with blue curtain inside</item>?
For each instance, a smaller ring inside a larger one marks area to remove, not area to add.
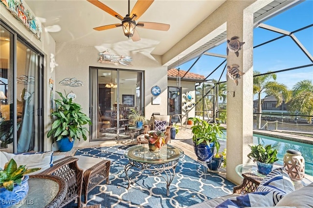
[[[0,30],[1,151],[42,151],[43,55],[5,25]]]

